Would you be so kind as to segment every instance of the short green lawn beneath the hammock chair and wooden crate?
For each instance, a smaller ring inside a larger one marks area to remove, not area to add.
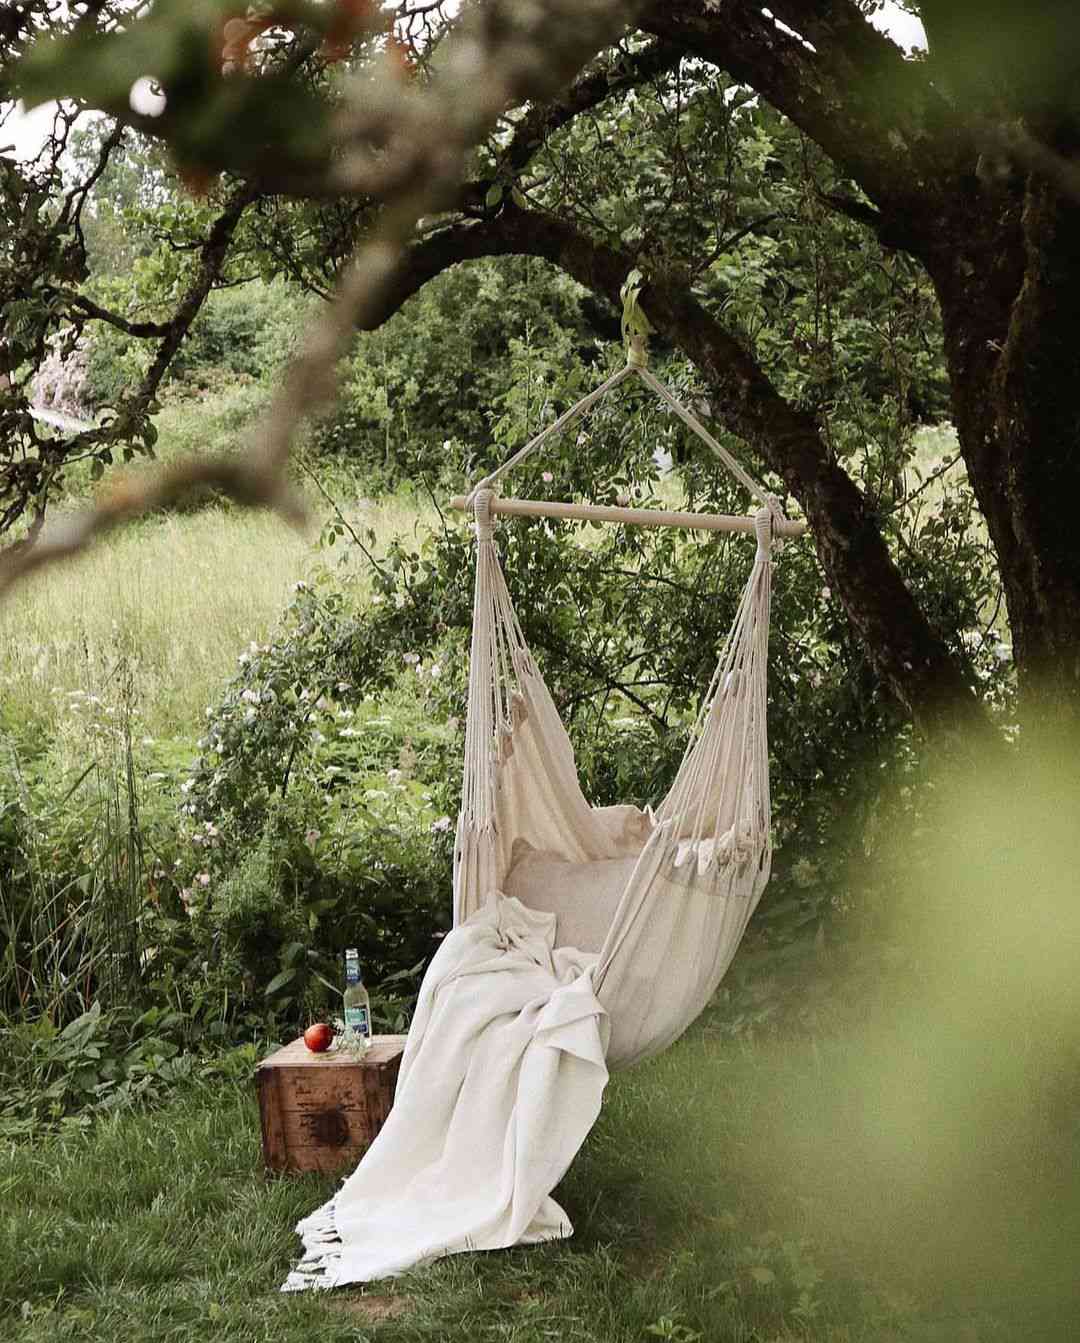
[[[807,1105],[830,1104],[818,1064],[810,1042],[750,1049],[699,1027],[613,1078],[557,1190],[572,1240],[455,1256],[329,1293],[277,1292],[298,1250],[293,1225],[336,1180],[263,1176],[246,1078],[193,1085],[165,1108],[106,1117],[89,1135],[8,1147],[0,1339],[1018,1336],[978,1303],[920,1301],[907,1246],[893,1245],[892,1260],[880,1245],[870,1253],[869,1222],[845,1237],[821,1210],[830,1202],[822,1172],[793,1159],[802,1154],[778,1155],[778,1112],[782,1128]]]

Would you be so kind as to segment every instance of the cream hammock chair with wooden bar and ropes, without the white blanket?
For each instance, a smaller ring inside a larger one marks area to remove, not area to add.
[[[627,377],[639,377],[763,505],[754,517],[498,498],[508,470]],[[476,517],[465,780],[454,924],[498,893],[556,916],[556,945],[598,956],[609,1066],[672,1044],[716,991],[770,874],[766,662],[771,555],[805,524],[768,496],[647,368],[625,367],[453,505]],[[553,516],[754,532],[746,591],[668,796],[656,808],[591,807],[574,749],[510,603],[493,517]]]

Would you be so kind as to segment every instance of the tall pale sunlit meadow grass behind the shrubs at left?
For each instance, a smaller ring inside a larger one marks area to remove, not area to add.
[[[251,389],[232,389],[204,406],[167,407],[159,419],[160,457],[168,461],[207,443],[235,446],[259,404]],[[353,522],[375,529],[376,545],[427,516],[403,498],[341,504]],[[317,544],[328,506],[314,494],[312,512],[308,537],[271,514],[234,508],[148,518],[36,576],[0,606],[4,708],[15,721],[51,731],[70,692],[105,701],[114,696],[124,655],[134,676],[141,731],[197,735],[236,657],[253,639],[266,638],[296,582],[328,560]]]

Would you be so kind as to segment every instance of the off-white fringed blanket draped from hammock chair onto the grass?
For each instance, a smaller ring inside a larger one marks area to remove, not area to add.
[[[556,1240],[551,1198],[607,1082],[595,955],[498,896],[449,933],[408,1033],[394,1108],[353,1174],[297,1225],[283,1292],[388,1277],[461,1250]]]

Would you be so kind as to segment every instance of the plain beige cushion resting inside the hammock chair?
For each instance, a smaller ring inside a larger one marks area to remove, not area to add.
[[[619,908],[637,854],[598,862],[567,862],[557,853],[533,849],[519,839],[505,894],[529,909],[555,915],[557,947],[599,952]]]

